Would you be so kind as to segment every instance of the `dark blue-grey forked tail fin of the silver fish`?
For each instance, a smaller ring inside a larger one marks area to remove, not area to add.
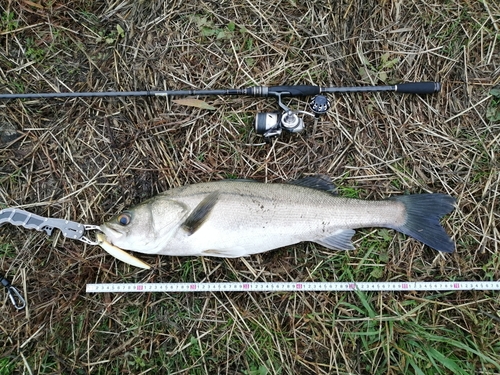
[[[446,194],[414,194],[390,198],[404,204],[406,222],[393,229],[423,242],[435,250],[452,253],[455,243],[439,220],[455,208],[455,198]]]

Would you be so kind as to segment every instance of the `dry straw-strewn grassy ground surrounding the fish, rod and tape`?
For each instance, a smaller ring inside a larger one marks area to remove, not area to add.
[[[0,292],[0,375],[500,373],[495,292],[85,293],[94,282],[500,279],[496,2],[165,4],[2,3],[0,91],[434,80],[442,91],[330,95],[314,133],[269,145],[253,119],[277,109],[272,98],[200,98],[215,111],[165,98],[0,102],[0,207],[98,224],[187,183],[321,173],[353,198],[455,196],[443,225],[457,250],[374,228],[351,252],[139,255],[149,272],[5,225],[0,273],[28,307],[16,312]]]

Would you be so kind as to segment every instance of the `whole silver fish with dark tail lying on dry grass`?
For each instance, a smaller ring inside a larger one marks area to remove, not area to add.
[[[303,241],[353,249],[355,228],[392,228],[453,252],[440,225],[455,199],[445,194],[368,201],[335,195],[330,179],[265,184],[223,180],[168,190],[101,225],[121,249],[176,256],[241,257]]]

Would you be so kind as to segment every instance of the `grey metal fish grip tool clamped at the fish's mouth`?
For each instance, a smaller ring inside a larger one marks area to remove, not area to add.
[[[98,241],[91,240],[85,235],[88,231],[100,230],[98,225],[81,224],[65,219],[43,217],[18,208],[5,208],[0,210],[0,226],[3,224],[12,224],[22,226],[26,229],[43,231],[48,236],[51,236],[54,228],[57,228],[66,238],[82,241],[89,245],[99,244]]]

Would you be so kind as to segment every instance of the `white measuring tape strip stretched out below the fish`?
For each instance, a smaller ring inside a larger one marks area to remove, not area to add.
[[[187,292],[373,292],[500,290],[500,281],[415,282],[223,282],[87,284],[87,293]]]

